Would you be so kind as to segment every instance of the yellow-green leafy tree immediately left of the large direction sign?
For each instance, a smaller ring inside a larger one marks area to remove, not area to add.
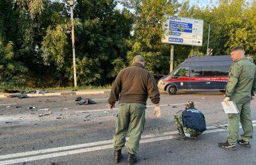
[[[127,52],[130,63],[138,54],[145,57],[146,67],[153,74],[167,74],[169,70],[169,46],[161,42],[164,15],[173,15],[179,7],[177,1],[123,1],[134,10],[134,36],[129,40],[132,50]]]

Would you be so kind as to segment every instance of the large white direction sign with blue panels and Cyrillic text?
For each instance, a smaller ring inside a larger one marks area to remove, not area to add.
[[[202,46],[204,20],[166,15],[163,43]]]

